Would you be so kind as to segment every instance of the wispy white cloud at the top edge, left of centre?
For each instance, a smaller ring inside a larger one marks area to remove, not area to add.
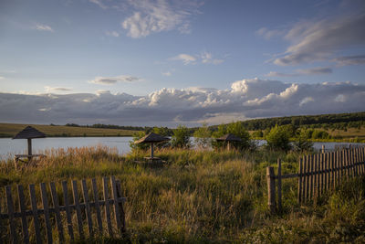
[[[177,28],[181,33],[190,32],[190,18],[198,13],[201,5],[196,1],[152,1],[137,0],[128,2],[134,9],[121,27],[128,30],[132,38],[147,37],[152,33]]]

